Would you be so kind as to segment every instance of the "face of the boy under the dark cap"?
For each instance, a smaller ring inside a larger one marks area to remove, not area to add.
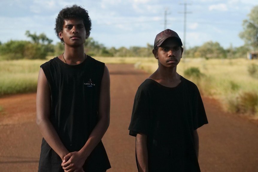
[[[160,65],[163,65],[167,68],[176,67],[180,62],[183,48],[181,48],[180,43],[175,38],[166,39],[157,50],[152,50],[154,56],[160,62]]]

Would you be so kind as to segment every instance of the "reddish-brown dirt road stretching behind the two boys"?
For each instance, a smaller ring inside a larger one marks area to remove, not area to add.
[[[133,65],[108,64],[111,79],[110,127],[102,139],[112,168],[136,172],[135,138],[128,125],[135,92],[145,78]],[[37,171],[42,136],[35,123],[36,94],[0,98],[0,171]],[[209,124],[198,129],[202,172],[258,172],[258,125],[220,110],[203,98]]]

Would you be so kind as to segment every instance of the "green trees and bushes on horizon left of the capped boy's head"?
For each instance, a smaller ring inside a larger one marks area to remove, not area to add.
[[[26,31],[25,35],[30,41],[10,40],[3,44],[0,42],[0,60],[45,59],[49,55],[57,56],[64,51],[63,43],[51,44],[53,40],[47,38],[44,33],[37,35]],[[98,57],[150,57],[152,49],[153,45],[150,44],[147,44],[147,47],[107,48],[92,37],[86,39],[84,43],[87,54]]]

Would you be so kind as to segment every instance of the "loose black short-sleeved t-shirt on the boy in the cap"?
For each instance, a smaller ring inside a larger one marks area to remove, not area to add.
[[[129,134],[147,135],[149,172],[198,172],[193,131],[207,123],[194,83],[181,77],[170,88],[146,79],[135,95]]]

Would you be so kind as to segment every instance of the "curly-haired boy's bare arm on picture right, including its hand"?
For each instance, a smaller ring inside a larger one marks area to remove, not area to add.
[[[92,150],[97,146],[104,136],[110,121],[110,76],[105,66],[100,87],[100,98],[98,106],[98,123],[89,135],[84,147],[78,152],[69,153],[64,157],[63,169],[75,170],[84,164]],[[69,160],[68,160],[69,159]]]

